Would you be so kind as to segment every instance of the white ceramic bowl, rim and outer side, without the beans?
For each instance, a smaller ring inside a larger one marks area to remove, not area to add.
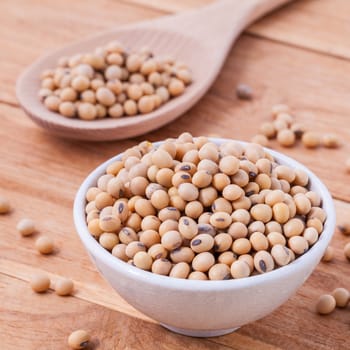
[[[215,143],[228,140],[212,139]],[[305,166],[269,150],[280,163],[307,172],[327,213],[324,231],[311,249],[291,264],[262,275],[238,280],[195,281],[153,274],[129,265],[106,251],[90,235],[85,221],[85,194],[95,186],[106,167],[121,155],[95,169],[81,185],[74,202],[77,232],[96,267],[132,306],[166,328],[190,336],[218,336],[258,320],[283,304],[306,281],[322,258],[334,232],[335,211],[325,185]]]

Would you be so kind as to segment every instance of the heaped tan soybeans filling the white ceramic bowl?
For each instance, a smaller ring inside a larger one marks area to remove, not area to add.
[[[326,213],[301,169],[260,145],[183,133],[142,142],[86,193],[88,230],[115,257],[175,278],[225,280],[291,263]]]

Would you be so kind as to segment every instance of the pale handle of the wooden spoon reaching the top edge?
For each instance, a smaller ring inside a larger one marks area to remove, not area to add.
[[[198,10],[153,21],[152,26],[185,34],[226,53],[249,24],[291,0],[218,0]]]

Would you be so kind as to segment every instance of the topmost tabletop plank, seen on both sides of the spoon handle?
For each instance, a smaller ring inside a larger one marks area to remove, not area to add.
[[[143,8],[161,9],[164,13],[186,11],[213,1],[216,0],[122,0]],[[296,0],[253,24],[246,33],[348,59],[348,6],[347,0]]]

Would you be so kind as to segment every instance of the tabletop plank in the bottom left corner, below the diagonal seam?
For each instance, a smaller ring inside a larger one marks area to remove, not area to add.
[[[21,296],[19,299],[13,298],[14,290]],[[0,303],[0,339],[4,350],[68,349],[67,338],[77,329],[91,334],[88,350],[144,350],[146,346],[167,350],[232,349],[210,340],[180,336],[159,325],[77,298],[59,297],[53,292],[36,294],[27,283],[1,273]],[[243,344],[260,344],[244,335],[239,338]]]

